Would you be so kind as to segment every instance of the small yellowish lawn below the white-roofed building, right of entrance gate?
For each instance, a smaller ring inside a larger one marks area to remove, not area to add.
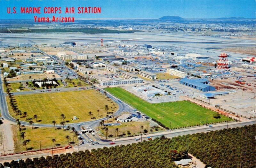
[[[150,133],[156,133],[159,131],[165,131],[163,127],[158,127],[156,129],[150,128],[150,122],[122,122],[122,125],[117,125],[117,126],[108,126],[108,135],[113,135],[115,136],[115,129],[118,128],[118,135],[125,134],[123,136],[131,136],[131,135],[140,135],[140,132],[144,132],[144,129],[148,130],[148,134]],[[141,128],[143,126],[143,130]],[[100,133],[103,137],[106,138],[106,131],[105,129],[101,129],[101,126],[99,126]],[[128,135],[127,131],[130,131],[130,134]],[[116,133],[117,137],[117,133]]]

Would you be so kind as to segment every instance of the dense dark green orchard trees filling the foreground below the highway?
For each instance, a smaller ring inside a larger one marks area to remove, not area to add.
[[[206,167],[254,168],[256,125],[241,128],[222,129],[207,133],[177,136],[172,139],[164,136],[152,141],[128,145],[104,147],[5,162],[11,168],[177,168],[173,161],[185,159],[191,153]],[[1,165],[3,166],[3,165]]]

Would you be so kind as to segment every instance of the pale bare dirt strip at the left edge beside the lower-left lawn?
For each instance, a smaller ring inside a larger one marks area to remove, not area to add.
[[[0,146],[1,154],[13,153],[14,152],[14,141],[13,141],[13,132],[12,132],[12,122],[7,120],[3,121],[1,125],[1,134],[3,135],[3,144]],[[3,148],[4,146],[4,148]]]

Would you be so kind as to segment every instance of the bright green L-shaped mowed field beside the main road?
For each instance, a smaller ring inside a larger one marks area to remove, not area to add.
[[[150,104],[147,101],[127,92],[122,88],[105,88],[106,91],[118,97],[122,101],[130,104],[140,112],[164,124],[167,128],[179,128],[185,126],[194,126],[197,124],[231,121],[232,119],[221,115],[221,118],[215,119],[215,112],[198,106],[189,101],[175,101]]]

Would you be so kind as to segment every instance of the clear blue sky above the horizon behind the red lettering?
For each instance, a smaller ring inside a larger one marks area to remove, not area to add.
[[[75,18],[255,18],[255,0],[0,0],[0,18],[31,18],[34,14],[7,14],[7,7],[101,7],[101,14],[73,14]],[[41,14],[38,17],[51,17]],[[60,14],[55,14],[59,17]],[[61,16],[71,16],[65,15]]]

